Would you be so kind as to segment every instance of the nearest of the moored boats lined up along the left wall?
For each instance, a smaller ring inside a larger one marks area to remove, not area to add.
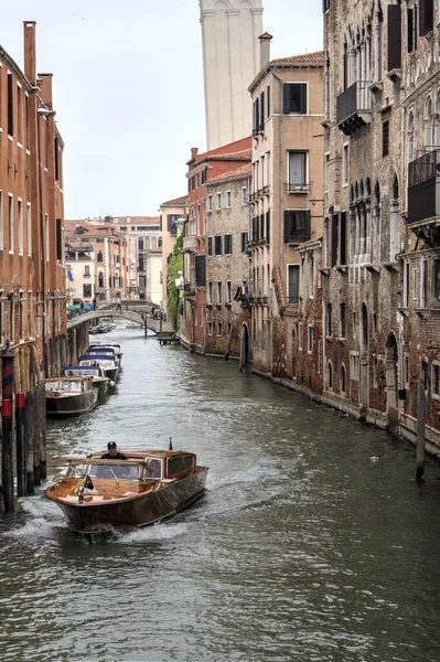
[[[78,416],[92,412],[98,403],[98,392],[92,377],[50,377],[42,380],[47,416]]]

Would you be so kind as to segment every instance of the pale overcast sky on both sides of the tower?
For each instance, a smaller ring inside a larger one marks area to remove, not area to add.
[[[266,0],[272,57],[322,47],[321,0]],[[54,74],[65,141],[66,218],[155,215],[184,195],[191,147],[205,149],[197,0],[15,0],[0,43],[23,66],[35,20],[37,71]],[[250,83],[250,82],[249,82]]]

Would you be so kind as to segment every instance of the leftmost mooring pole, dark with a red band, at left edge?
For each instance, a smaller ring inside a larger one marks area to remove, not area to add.
[[[3,439],[1,445],[2,460],[2,485],[4,510],[11,511],[14,508],[13,501],[13,469],[12,469],[12,394],[13,394],[13,360],[14,354],[7,346],[0,354],[1,359],[1,421],[3,429]]]

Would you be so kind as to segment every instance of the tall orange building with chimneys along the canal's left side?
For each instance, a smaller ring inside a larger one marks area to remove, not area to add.
[[[66,355],[63,148],[25,21],[24,71],[0,46],[0,342],[31,363],[23,389]]]

